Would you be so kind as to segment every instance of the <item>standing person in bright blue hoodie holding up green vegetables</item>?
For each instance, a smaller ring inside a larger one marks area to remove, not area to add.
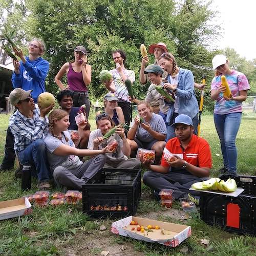
[[[21,59],[13,60],[14,72],[12,74],[13,88],[22,88],[25,91],[32,91],[32,98],[37,103],[40,93],[46,92],[45,79],[49,72],[49,62],[42,58],[45,52],[44,42],[34,39],[29,44],[29,56],[24,56],[21,49],[13,49],[14,53]],[[5,144],[5,156],[0,166],[0,172],[12,169],[15,161],[13,149],[14,137],[8,127]],[[18,171],[18,170],[17,170]],[[16,171],[16,172],[17,172]]]

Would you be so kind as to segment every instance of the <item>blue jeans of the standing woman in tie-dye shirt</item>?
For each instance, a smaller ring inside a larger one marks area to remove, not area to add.
[[[229,173],[237,173],[236,137],[241,123],[242,112],[225,115],[214,114],[214,122],[221,142],[224,167]]]

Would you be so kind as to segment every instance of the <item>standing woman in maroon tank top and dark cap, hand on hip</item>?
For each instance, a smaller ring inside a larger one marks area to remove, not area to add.
[[[86,105],[87,118],[90,112],[90,100],[88,86],[92,78],[92,67],[87,64],[87,50],[83,46],[77,46],[74,50],[74,62],[66,62],[55,76],[57,86],[62,90],[70,90],[74,93],[73,106]],[[61,78],[67,74],[68,86],[63,86]]]

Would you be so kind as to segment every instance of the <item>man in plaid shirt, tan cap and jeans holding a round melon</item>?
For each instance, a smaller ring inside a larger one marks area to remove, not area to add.
[[[45,142],[42,140],[48,126],[47,114],[53,108],[42,109],[34,103],[32,90],[14,89],[9,96],[17,111],[10,117],[9,126],[15,138],[14,150],[20,164],[35,166],[39,189],[49,189],[52,178],[48,167]]]

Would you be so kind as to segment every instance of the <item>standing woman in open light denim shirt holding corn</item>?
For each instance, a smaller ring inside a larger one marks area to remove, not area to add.
[[[197,135],[199,107],[194,91],[194,76],[192,72],[179,68],[175,57],[168,52],[161,55],[159,65],[168,72],[167,83],[163,86],[164,89],[172,91],[175,95],[175,103],[169,102],[170,108],[166,117],[166,141],[175,137],[172,124],[180,114],[188,115],[193,120],[194,134]]]

